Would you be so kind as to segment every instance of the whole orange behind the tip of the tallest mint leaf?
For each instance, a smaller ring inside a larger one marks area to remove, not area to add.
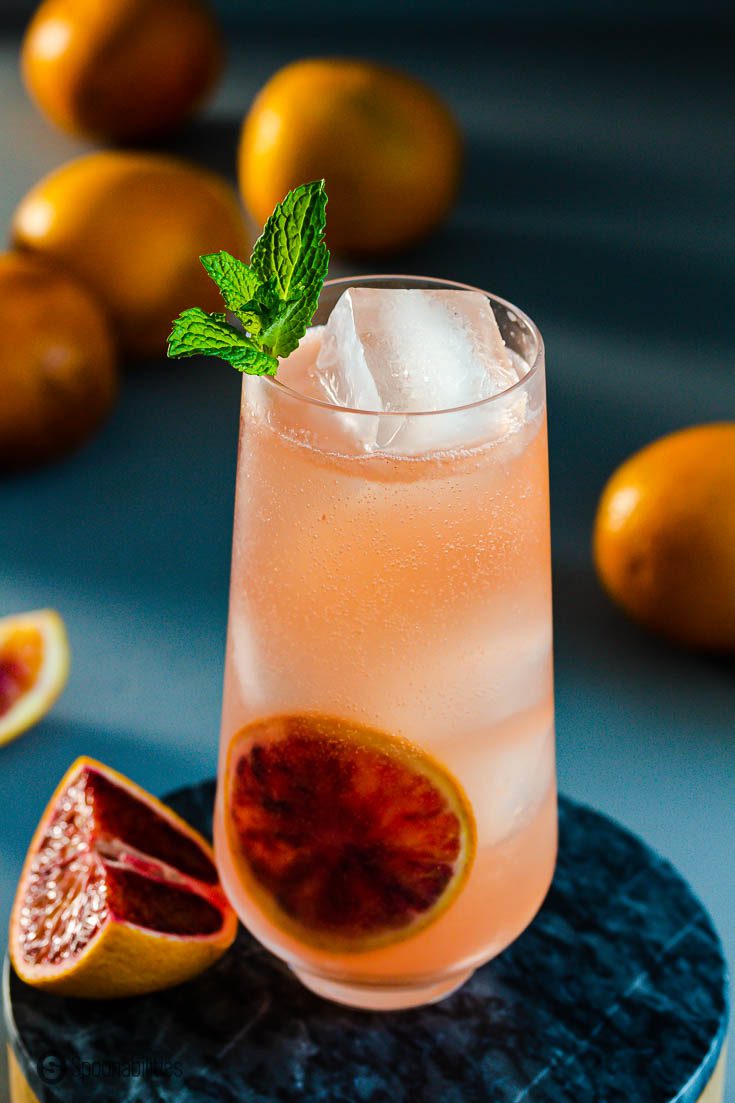
[[[441,100],[407,74],[323,58],[281,68],[256,97],[238,153],[245,205],[263,224],[289,189],[327,182],[337,253],[388,253],[444,218],[461,141]]]

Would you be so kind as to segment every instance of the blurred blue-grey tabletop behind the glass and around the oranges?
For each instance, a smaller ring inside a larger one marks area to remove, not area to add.
[[[6,40],[3,227],[40,174],[85,148],[26,101],[15,52]],[[459,204],[385,268],[497,291],[545,336],[561,785],[679,867],[732,962],[735,664],[628,623],[588,548],[599,491],[631,450],[735,417],[732,42],[701,30],[254,32],[233,47],[209,118],[169,148],[232,174],[256,88],[292,57],[331,52],[404,65],[462,122]],[[39,814],[76,754],[155,792],[214,771],[238,385],[214,363],[130,367],[90,446],[0,484],[0,613],[55,606],[74,651],[54,711],[0,750],[3,923]]]

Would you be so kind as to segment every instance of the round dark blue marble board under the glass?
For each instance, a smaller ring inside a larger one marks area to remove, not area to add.
[[[170,803],[210,832],[213,797]],[[560,827],[539,917],[444,1003],[326,1003],[241,931],[202,977],[137,999],[47,996],[9,970],[20,1067],[42,1103],[693,1103],[727,1022],[712,923],[610,820],[562,799]]]

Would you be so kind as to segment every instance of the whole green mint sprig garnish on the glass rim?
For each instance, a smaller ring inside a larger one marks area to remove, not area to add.
[[[329,267],[324,181],[301,184],[276,206],[253,246],[249,265],[228,253],[200,257],[226,313],[184,310],[169,335],[169,356],[220,356],[238,372],[275,375],[306,333]]]

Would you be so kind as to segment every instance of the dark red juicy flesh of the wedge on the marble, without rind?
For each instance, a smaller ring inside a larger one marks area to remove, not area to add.
[[[216,869],[173,820],[83,765],[57,794],[25,871],[18,945],[29,965],[68,964],[109,919],[167,934],[223,927]]]

